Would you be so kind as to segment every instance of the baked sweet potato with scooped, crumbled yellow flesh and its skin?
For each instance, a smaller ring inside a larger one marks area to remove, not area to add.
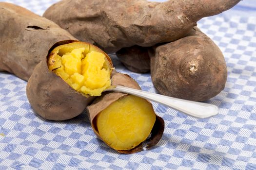
[[[98,53],[105,57],[103,61],[101,55],[93,60]],[[91,68],[85,61],[88,58],[101,68]],[[110,57],[96,46],[75,40],[60,41],[49,50],[48,56],[41,60],[29,78],[26,87],[28,101],[45,119],[72,119],[110,86],[111,68]],[[97,71],[92,71],[94,69]],[[99,83],[98,77],[105,82],[101,80]]]

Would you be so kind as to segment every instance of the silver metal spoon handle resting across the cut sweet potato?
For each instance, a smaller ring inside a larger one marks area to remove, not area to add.
[[[180,112],[183,112],[187,115],[197,117],[197,118],[208,118],[214,115],[217,115],[218,108],[217,106],[209,103],[203,102],[193,102],[183,99],[177,99],[169,96],[164,96],[160,94],[150,93],[147,91],[137,90],[133,88],[128,88],[124,86],[116,86],[111,89],[112,91],[128,93],[135,95],[153,102],[158,102],[173,109],[176,109]]]

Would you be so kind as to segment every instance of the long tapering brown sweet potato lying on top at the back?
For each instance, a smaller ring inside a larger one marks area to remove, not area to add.
[[[202,17],[217,15],[240,0],[62,0],[44,13],[80,41],[106,52],[150,47],[187,35]]]

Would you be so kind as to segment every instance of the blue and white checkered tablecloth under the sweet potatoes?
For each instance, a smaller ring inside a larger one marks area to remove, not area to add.
[[[6,0],[42,15],[58,0]],[[159,1],[159,0],[158,0]],[[162,139],[151,150],[119,154],[98,140],[85,113],[66,121],[37,116],[26,82],[0,72],[0,170],[256,170],[256,3],[203,18],[198,27],[220,47],[228,67],[225,89],[208,102],[219,114],[196,119],[153,103],[165,120]],[[150,74],[116,68],[143,90],[156,92]]]

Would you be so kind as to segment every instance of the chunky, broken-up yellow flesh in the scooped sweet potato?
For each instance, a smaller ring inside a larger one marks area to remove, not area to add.
[[[49,65],[49,69],[76,91],[85,95],[100,96],[101,92],[111,85],[111,72],[103,53],[74,43],[61,45],[55,51],[58,51],[58,54],[48,59],[53,63]]]

